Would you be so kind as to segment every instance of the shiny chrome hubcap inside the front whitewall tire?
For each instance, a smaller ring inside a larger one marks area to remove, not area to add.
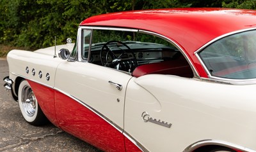
[[[22,108],[26,115],[28,116],[34,116],[36,113],[36,98],[35,94],[31,90],[29,86],[24,86],[22,88]]]

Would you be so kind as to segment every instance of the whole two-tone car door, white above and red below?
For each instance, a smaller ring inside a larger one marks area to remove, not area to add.
[[[55,81],[60,128],[101,149],[124,151],[124,97],[131,78],[108,67],[63,61]]]

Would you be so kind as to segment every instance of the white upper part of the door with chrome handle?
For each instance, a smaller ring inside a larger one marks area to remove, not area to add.
[[[125,90],[131,78],[129,74],[88,62],[63,61],[56,72],[55,87],[90,105],[123,129]],[[122,90],[108,81],[122,85]]]

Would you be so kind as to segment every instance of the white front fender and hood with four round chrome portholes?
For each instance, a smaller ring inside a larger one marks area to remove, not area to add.
[[[36,50],[35,52],[12,50],[7,56],[10,79],[13,79],[15,82],[17,76],[22,76],[23,78],[28,78],[38,83],[54,87],[56,68],[62,61],[58,55],[56,58],[53,57],[54,47],[55,46]],[[58,50],[61,48],[72,50],[74,44],[56,46],[56,53],[58,53]],[[29,68],[29,74],[26,73],[26,67]],[[32,69],[35,69],[35,76],[31,74]],[[38,76],[39,71],[42,71],[42,78]],[[47,73],[50,74],[49,81],[45,79]]]

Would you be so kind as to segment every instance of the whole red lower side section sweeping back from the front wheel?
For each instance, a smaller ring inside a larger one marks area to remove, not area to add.
[[[45,116],[57,127],[103,151],[140,151],[122,132],[90,109],[52,88],[29,81]]]

